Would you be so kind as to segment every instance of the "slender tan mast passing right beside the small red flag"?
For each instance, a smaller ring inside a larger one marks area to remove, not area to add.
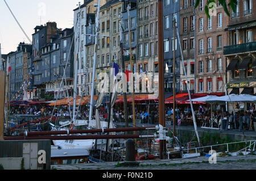
[[[131,68],[131,72],[133,72],[133,60],[132,60],[132,57],[131,57],[131,26],[130,26],[130,9],[131,9],[131,6],[129,5],[127,7],[127,12],[128,12],[128,26],[129,26],[129,42],[130,42],[130,68]],[[135,105],[134,105],[134,83],[133,83],[133,78],[131,78],[131,82],[132,82],[132,87],[133,87],[133,126],[136,127],[136,119],[135,119]],[[136,132],[134,132],[135,134]],[[135,143],[136,143],[136,140],[135,140]]]

